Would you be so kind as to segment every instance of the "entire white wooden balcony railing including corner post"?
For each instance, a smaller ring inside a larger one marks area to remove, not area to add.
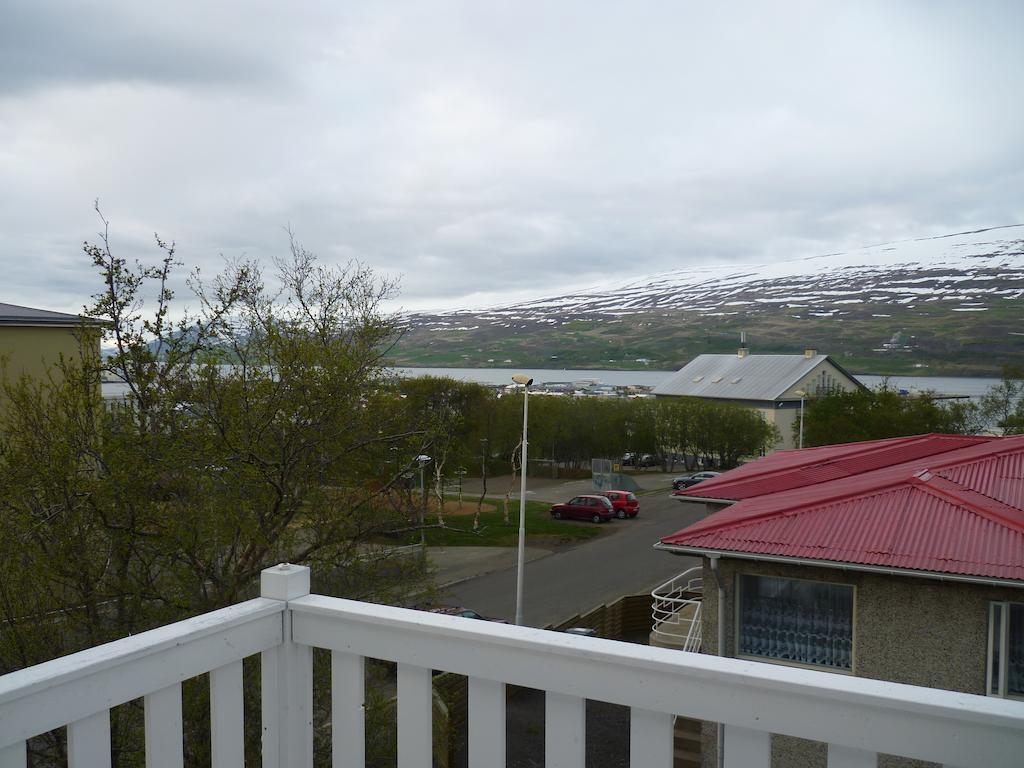
[[[312,649],[331,651],[334,768],[364,768],[364,659],[397,663],[399,768],[431,765],[431,670],[469,676],[469,764],[505,765],[505,685],[546,691],[546,765],[585,765],[585,702],[631,710],[631,765],[672,765],[673,716],[724,724],[729,768],[767,768],[770,733],[825,741],[830,768],[877,753],[1021,765],[1024,702],[310,595],[309,571],[262,596],[0,678],[0,766],[67,725],[72,768],[110,765],[109,710],[143,696],[146,765],[182,764],[181,682],[211,672],[214,768],[242,766],[242,659],[261,653],[262,762],[312,765]]]

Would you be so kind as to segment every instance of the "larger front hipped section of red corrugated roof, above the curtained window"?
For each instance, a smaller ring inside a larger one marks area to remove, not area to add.
[[[836,479],[808,479],[801,465],[793,468],[797,478],[767,473],[771,487],[782,489],[752,489],[662,543],[1024,581],[1024,436],[965,439],[922,456],[940,437],[951,436],[873,441],[851,458],[865,465],[894,451],[914,458]]]

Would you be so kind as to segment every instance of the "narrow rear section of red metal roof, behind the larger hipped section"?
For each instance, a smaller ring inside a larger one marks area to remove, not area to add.
[[[739,501],[765,494],[851,477],[895,464],[929,459],[992,440],[992,437],[926,434],[886,440],[779,451],[678,494]],[[922,466],[925,466],[922,465]]]

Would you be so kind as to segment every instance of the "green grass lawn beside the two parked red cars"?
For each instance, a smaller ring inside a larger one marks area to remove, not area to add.
[[[514,547],[519,537],[519,502],[509,502],[509,523],[502,521],[502,500],[487,499],[494,511],[480,513],[480,527],[473,531],[473,515],[445,515],[443,528],[427,528],[427,545],[431,547]],[[475,501],[466,509],[476,509]],[[526,502],[526,544],[551,546],[582,542],[601,534],[603,525],[583,520],[556,520],[550,514],[551,505]],[[436,518],[434,518],[436,520]]]

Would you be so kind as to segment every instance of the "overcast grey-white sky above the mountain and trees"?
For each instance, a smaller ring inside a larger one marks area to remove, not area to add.
[[[122,255],[395,304],[1024,222],[1024,3],[0,0],[0,302]]]

